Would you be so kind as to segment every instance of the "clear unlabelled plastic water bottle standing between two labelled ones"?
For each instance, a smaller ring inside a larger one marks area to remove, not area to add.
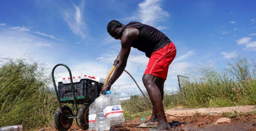
[[[111,123],[110,121],[106,121],[104,117],[104,103],[109,102],[109,99],[105,95],[99,96],[95,100],[95,107],[96,107],[96,127],[97,131],[105,131],[109,130]]]

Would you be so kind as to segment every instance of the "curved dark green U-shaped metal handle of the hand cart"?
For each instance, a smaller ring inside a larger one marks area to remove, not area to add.
[[[67,71],[69,72],[69,77],[72,78],[72,74],[71,74],[71,71],[69,69],[69,67],[65,64],[57,64],[56,66],[54,66],[54,68],[52,69],[52,81],[54,83],[54,89],[55,89],[55,93],[56,93],[56,96],[57,96],[57,100],[59,102],[59,108],[61,110],[61,113],[62,113],[62,108],[61,108],[61,100],[59,98],[59,94],[58,94],[58,91],[57,91],[57,87],[56,87],[56,83],[55,83],[55,79],[54,79],[54,70],[57,66],[64,66],[67,68]],[[78,107],[77,107],[77,104],[76,104],[76,96],[75,96],[75,93],[74,93],[74,86],[73,86],[73,80],[70,79],[71,81],[71,88],[72,88],[72,92],[73,92],[73,98],[74,98],[74,104],[76,106],[76,111],[78,111]],[[63,114],[63,113],[62,113]],[[64,114],[65,115],[65,114]]]

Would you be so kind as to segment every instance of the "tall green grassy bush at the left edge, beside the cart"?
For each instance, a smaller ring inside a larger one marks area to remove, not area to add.
[[[0,127],[25,129],[52,126],[55,94],[44,65],[26,59],[2,59],[0,67]]]

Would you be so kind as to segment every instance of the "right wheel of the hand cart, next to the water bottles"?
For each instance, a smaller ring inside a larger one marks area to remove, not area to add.
[[[83,130],[88,129],[89,107],[81,105],[77,111],[76,124]]]

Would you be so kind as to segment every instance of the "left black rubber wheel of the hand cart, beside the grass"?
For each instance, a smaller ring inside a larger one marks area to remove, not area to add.
[[[72,110],[68,106],[62,106],[62,112],[65,115],[73,116]],[[73,123],[73,119],[63,116],[58,108],[54,113],[54,126],[58,131],[67,131]]]

